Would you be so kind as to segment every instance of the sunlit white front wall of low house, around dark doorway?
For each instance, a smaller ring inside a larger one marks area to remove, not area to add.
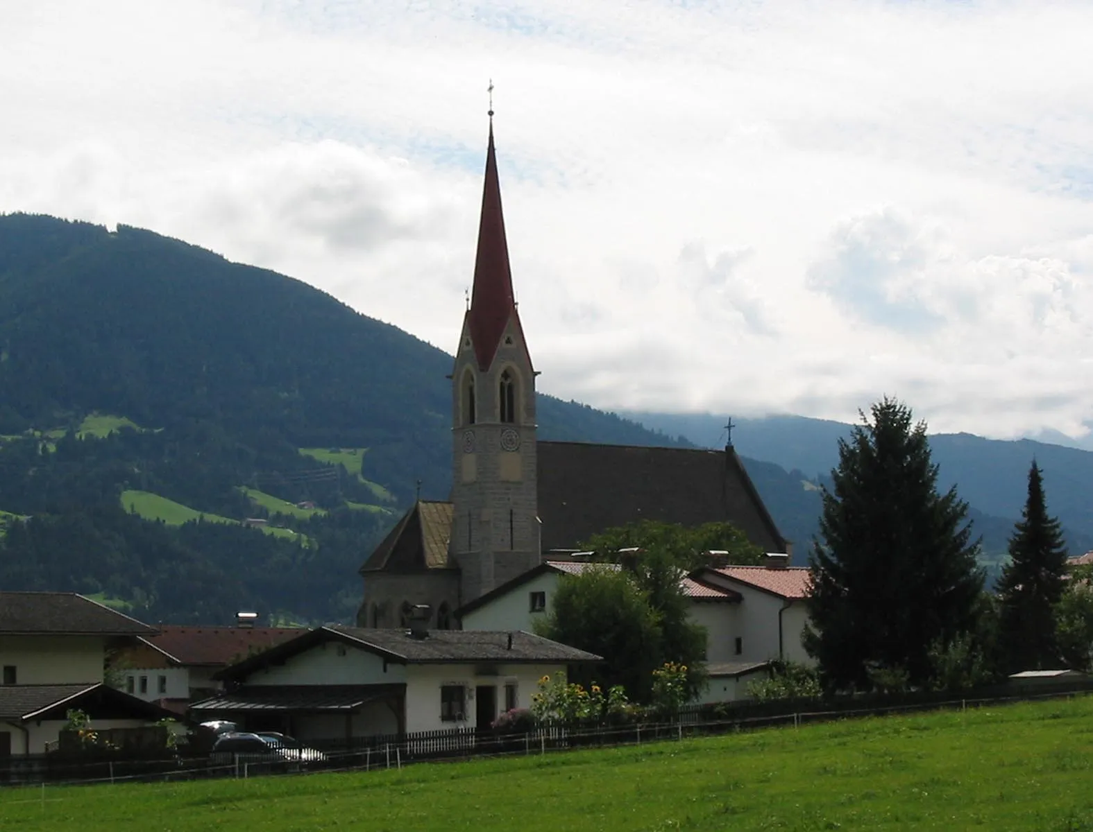
[[[480,676],[474,665],[410,665],[407,668],[407,730],[443,730],[446,728],[473,728],[477,725],[474,689],[492,685],[497,689],[496,710],[491,722],[505,708],[505,686],[517,686],[517,708],[530,708],[531,696],[539,690],[539,679],[564,673],[565,665],[497,665],[496,675]],[[440,688],[461,685],[467,708],[462,722],[440,720]]]

